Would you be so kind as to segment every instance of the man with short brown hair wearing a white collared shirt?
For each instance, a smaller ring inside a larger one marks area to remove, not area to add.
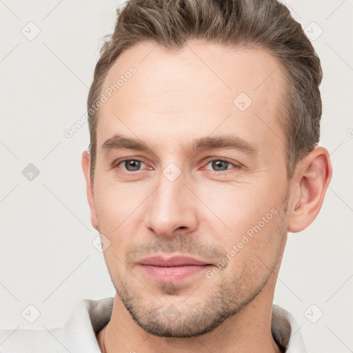
[[[51,335],[18,332],[19,352],[306,352],[272,301],[287,233],[314,221],[331,179],[321,77],[274,0],[128,2],[82,155],[117,294]]]

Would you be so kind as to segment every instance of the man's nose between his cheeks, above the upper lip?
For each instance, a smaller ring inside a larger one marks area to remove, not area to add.
[[[197,228],[196,198],[184,184],[183,173],[170,181],[161,173],[158,187],[148,198],[145,226],[158,236],[189,233]]]

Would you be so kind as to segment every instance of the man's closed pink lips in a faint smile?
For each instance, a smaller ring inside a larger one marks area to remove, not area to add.
[[[177,282],[205,271],[212,263],[194,259],[190,256],[150,256],[138,263],[145,274],[156,281]]]

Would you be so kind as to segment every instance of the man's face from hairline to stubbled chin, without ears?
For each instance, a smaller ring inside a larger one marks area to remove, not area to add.
[[[208,43],[180,52],[141,43],[110,69],[93,223],[110,241],[117,294],[146,331],[208,332],[278,270],[288,224],[284,90],[267,52]]]

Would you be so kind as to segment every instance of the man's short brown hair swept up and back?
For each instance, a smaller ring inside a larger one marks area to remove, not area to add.
[[[90,172],[94,179],[97,119],[92,107],[108,71],[123,50],[152,40],[169,50],[188,40],[268,50],[287,79],[281,124],[286,137],[288,179],[296,163],[314,150],[320,138],[322,79],[320,59],[288,8],[276,0],[130,0],[117,10],[114,33],[101,48],[88,94]]]

